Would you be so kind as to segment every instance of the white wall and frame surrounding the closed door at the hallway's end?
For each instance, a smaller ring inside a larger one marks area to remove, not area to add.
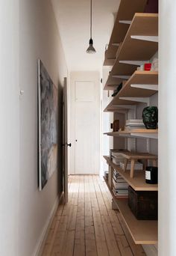
[[[95,142],[94,142],[94,152],[95,152],[95,174],[99,174],[101,168],[101,84],[100,84],[100,73],[98,71],[80,71],[71,72],[69,77],[69,92],[70,92],[70,142],[72,147],[70,150],[70,174],[75,174],[75,81],[93,81],[95,82]],[[86,92],[85,92],[86,93]]]

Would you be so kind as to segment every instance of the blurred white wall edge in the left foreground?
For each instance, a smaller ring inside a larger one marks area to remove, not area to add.
[[[19,0],[0,1],[0,255],[19,255]]]

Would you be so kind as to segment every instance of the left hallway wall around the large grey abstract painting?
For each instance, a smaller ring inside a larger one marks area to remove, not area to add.
[[[42,192],[37,180],[37,58],[43,61],[59,91],[59,145],[61,100],[67,67],[50,0],[19,0],[20,184],[19,254],[36,255],[51,210],[62,190],[61,148],[59,170]]]

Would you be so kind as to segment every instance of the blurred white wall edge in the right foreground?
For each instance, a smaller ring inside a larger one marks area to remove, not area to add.
[[[175,256],[176,243],[176,1],[160,0],[159,253]]]

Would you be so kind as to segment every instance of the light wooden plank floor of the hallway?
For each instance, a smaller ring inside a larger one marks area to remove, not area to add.
[[[98,176],[70,176],[69,203],[58,207],[43,256],[144,256],[111,201]]]

